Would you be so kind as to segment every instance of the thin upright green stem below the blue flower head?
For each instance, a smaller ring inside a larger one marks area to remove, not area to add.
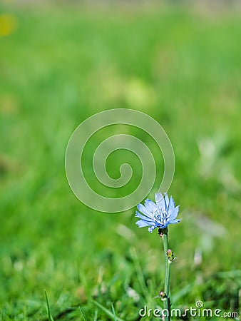
[[[170,262],[168,260],[168,228],[163,230],[163,247],[164,247],[164,255],[165,255],[165,288],[164,292],[167,296],[165,299],[165,310],[168,310],[168,316],[165,316],[165,321],[170,321],[170,296],[169,296],[169,290],[170,290]],[[167,313],[165,312],[165,315]]]

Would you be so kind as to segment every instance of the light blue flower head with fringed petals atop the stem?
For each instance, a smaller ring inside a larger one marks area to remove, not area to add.
[[[167,228],[169,224],[179,223],[176,219],[179,212],[179,206],[175,207],[173,197],[168,198],[168,194],[163,196],[161,193],[155,194],[155,203],[152,200],[145,200],[145,205],[138,204],[139,210],[135,216],[140,218],[135,224],[139,228],[149,226],[148,231],[153,232],[154,228]]]

